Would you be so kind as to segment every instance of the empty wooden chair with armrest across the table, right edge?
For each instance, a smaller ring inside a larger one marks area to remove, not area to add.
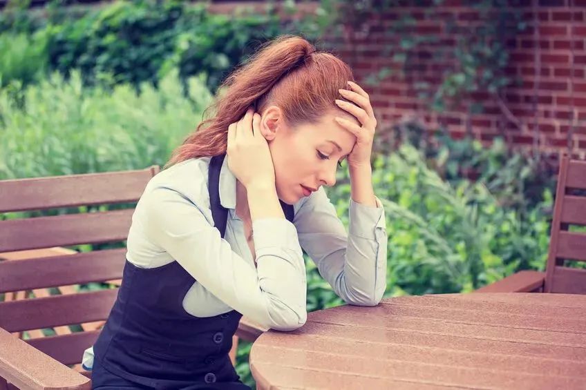
[[[561,160],[551,222],[546,271],[520,271],[478,289],[477,293],[544,292],[586,294],[586,269],[566,266],[567,260],[586,261],[586,161]]]

